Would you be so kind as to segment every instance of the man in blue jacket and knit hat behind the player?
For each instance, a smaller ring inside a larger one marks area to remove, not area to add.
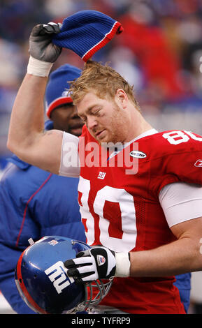
[[[48,121],[45,130],[57,128],[80,135],[82,121],[67,96],[68,81],[80,75],[74,66],[64,65],[50,74],[45,101]],[[78,179],[59,177],[8,158],[0,182],[0,290],[16,313],[34,313],[17,292],[14,271],[28,239],[60,235],[85,241],[78,206]]]

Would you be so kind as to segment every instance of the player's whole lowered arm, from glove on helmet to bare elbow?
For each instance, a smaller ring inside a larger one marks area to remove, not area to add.
[[[68,275],[82,282],[113,276],[162,277],[202,271],[201,226],[202,217],[178,223],[171,227],[175,241],[146,251],[115,253],[104,246],[92,246],[64,262],[64,266]]]

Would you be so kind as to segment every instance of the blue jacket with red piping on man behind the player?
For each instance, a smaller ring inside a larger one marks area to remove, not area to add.
[[[0,290],[17,313],[31,313],[14,280],[17,260],[29,246],[28,239],[61,235],[85,241],[77,186],[78,179],[15,165],[0,181]]]

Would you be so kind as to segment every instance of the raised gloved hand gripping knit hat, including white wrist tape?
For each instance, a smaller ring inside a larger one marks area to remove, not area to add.
[[[27,73],[37,76],[48,76],[52,64],[62,52],[62,47],[52,43],[52,35],[59,33],[61,23],[50,22],[36,25],[29,37],[29,64]]]

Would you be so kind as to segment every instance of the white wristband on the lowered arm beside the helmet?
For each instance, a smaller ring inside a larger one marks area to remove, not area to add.
[[[115,253],[116,273],[115,277],[129,277],[131,262],[129,253]]]

